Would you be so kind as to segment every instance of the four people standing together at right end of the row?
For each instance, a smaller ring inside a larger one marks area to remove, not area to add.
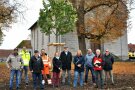
[[[73,87],[77,86],[78,75],[80,77],[80,86],[88,83],[89,70],[91,71],[92,83],[96,88],[103,89],[104,85],[108,84],[108,78],[110,78],[111,84],[114,85],[112,73],[114,58],[108,49],[103,55],[99,49],[96,50],[95,54],[91,49],[88,49],[85,56],[82,55],[81,50],[78,50],[77,55],[74,57],[73,63],[75,66]],[[85,79],[83,81],[84,71]]]

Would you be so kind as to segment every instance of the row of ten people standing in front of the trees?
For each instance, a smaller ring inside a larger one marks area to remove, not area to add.
[[[78,50],[73,58],[68,47],[64,47],[61,53],[55,52],[51,60],[45,49],[42,49],[41,53],[35,50],[34,55],[30,57],[30,53],[26,50],[26,47],[23,47],[20,52],[15,48],[13,54],[9,55],[6,62],[7,67],[10,69],[10,90],[13,89],[14,75],[16,75],[16,89],[19,89],[23,71],[26,86],[29,83],[28,71],[32,73],[34,90],[37,89],[38,84],[41,89],[44,89],[45,83],[52,84],[53,87],[59,87],[61,82],[62,85],[72,85],[72,62],[74,64],[74,88],[77,87],[78,83],[80,86],[84,86],[90,82],[88,81],[89,71],[91,71],[92,85],[94,87],[104,88],[104,85],[108,84],[109,77],[112,85],[114,85],[112,73],[114,58],[108,49],[103,55],[99,49],[96,50],[95,54],[91,49],[88,49],[86,55],[83,55],[82,51]]]

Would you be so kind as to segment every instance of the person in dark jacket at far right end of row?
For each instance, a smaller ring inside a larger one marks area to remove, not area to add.
[[[113,63],[114,63],[114,58],[113,56],[110,54],[109,50],[106,49],[105,54],[103,55],[103,59],[104,59],[104,79],[105,79],[105,84],[108,84],[108,76],[110,76],[111,78],[111,82],[112,85],[114,85],[114,80],[113,80],[113,73],[112,73],[112,69],[113,69]]]

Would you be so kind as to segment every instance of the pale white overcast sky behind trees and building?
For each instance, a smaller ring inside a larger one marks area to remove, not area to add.
[[[21,20],[16,24],[12,25],[7,31],[4,32],[6,35],[4,37],[3,44],[0,46],[0,49],[13,49],[15,48],[22,40],[28,38],[30,34],[29,27],[38,19],[39,9],[42,6],[42,0],[24,0],[25,5],[28,10],[24,14],[25,20]],[[27,2],[26,2],[27,1]],[[132,28],[128,30],[128,43],[135,44],[135,10],[132,10],[131,14]]]

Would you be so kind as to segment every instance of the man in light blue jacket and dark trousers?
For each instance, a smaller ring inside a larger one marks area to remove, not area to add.
[[[93,85],[95,85],[95,74],[94,74],[94,68],[92,65],[92,59],[94,58],[95,54],[92,52],[91,49],[88,49],[88,52],[85,56],[85,68],[86,68],[86,72],[85,72],[85,84],[87,84],[87,80],[88,80],[88,73],[89,70],[91,71],[91,76],[92,76],[92,82]]]

